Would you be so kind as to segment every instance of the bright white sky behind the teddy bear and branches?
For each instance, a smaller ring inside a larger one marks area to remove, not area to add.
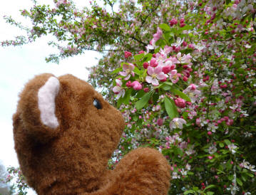
[[[45,4],[52,3],[52,0],[41,0]],[[87,0],[74,1],[78,7],[86,6]],[[29,25],[29,20],[20,16],[20,9],[29,9],[32,6],[31,0],[8,0],[1,1],[0,6],[0,41],[14,39],[14,36],[21,35],[19,28],[5,23],[3,16],[12,16],[17,21]],[[57,65],[46,63],[44,60],[51,53],[58,52],[55,48],[47,45],[49,38],[41,38],[35,43],[19,47],[2,48],[0,46],[0,161],[5,167],[18,167],[19,163],[14,151],[14,139],[12,132],[11,117],[16,112],[18,95],[29,79],[40,73],[53,73],[59,76],[73,74],[83,80],[88,79],[86,67],[96,65],[101,54],[96,51],[86,51],[81,56],[75,56]],[[98,58],[98,59],[97,59]],[[33,194],[33,193],[32,193]]]

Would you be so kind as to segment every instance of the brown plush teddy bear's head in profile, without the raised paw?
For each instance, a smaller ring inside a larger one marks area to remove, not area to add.
[[[36,76],[20,94],[14,114],[14,141],[30,186],[47,194],[54,186],[101,185],[108,159],[123,132],[121,112],[91,85],[73,75]],[[72,194],[72,192],[70,192]]]

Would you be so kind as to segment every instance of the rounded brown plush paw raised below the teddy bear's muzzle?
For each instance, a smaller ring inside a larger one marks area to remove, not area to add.
[[[170,165],[157,150],[139,148],[121,159],[109,180],[96,194],[167,194]]]

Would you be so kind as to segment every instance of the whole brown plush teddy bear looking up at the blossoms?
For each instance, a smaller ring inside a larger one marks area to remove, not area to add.
[[[38,194],[168,193],[170,166],[155,149],[135,149],[107,169],[123,117],[73,75],[30,80],[13,120],[21,170]]]

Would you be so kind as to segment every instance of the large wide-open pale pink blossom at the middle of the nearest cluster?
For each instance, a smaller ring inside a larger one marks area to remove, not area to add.
[[[148,66],[148,76],[146,76],[145,81],[148,83],[152,83],[154,86],[158,86],[158,80],[164,80],[166,78],[165,74],[162,72],[162,68],[160,66],[156,68],[152,68]]]

